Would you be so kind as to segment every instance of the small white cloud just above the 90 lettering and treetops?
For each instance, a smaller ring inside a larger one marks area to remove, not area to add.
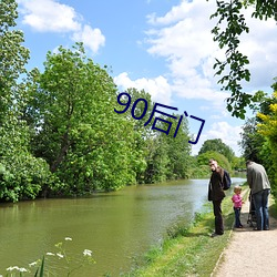
[[[122,90],[135,88],[148,92],[154,102],[171,104],[171,85],[164,76],[154,79],[141,78],[132,81],[126,72],[114,78],[114,82]]]

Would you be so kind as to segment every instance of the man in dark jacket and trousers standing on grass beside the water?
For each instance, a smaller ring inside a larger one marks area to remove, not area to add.
[[[208,164],[212,170],[211,181],[208,185],[208,201],[213,202],[215,215],[215,232],[212,234],[212,237],[215,237],[224,234],[222,213],[222,201],[225,197],[225,193],[223,191],[224,170],[218,166],[217,162],[214,158],[209,160]]]

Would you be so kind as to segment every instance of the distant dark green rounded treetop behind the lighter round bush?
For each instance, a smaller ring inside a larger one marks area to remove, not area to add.
[[[228,145],[223,143],[223,141],[220,138],[205,141],[199,150],[198,155],[204,154],[208,151],[214,151],[214,152],[220,153],[222,155],[227,157],[229,163],[232,163],[233,158],[235,157],[234,151]]]

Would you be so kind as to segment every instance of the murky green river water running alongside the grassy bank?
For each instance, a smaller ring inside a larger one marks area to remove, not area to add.
[[[233,183],[244,181],[233,178]],[[187,224],[192,220],[195,212],[207,202],[207,183],[208,179],[186,179],[129,186],[89,198],[1,204],[0,275],[4,276],[9,266],[28,268],[47,253],[59,253],[54,245],[62,242],[68,257],[72,258],[72,268],[83,258],[84,249],[92,250],[96,261],[71,276],[93,277],[107,273],[119,276],[130,270],[135,257],[157,245],[168,227],[181,219]],[[59,271],[55,267],[66,267],[64,258],[45,257],[52,273]],[[59,273],[57,276],[66,275]]]

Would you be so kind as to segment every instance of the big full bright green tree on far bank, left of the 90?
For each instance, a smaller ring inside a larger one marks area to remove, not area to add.
[[[133,147],[133,124],[114,112],[115,84],[86,58],[83,44],[49,52],[44,72],[33,70],[32,80],[25,115],[35,119],[32,151],[63,183],[50,188],[82,194],[135,183],[133,164],[141,156]]]

